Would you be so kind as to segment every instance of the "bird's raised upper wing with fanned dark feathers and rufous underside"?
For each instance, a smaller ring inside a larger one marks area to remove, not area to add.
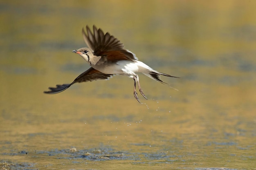
[[[108,61],[138,60],[134,53],[124,49],[124,44],[110,33],[104,34],[95,25],[93,32],[86,26],[86,32],[82,29],[83,39],[87,46],[92,49],[94,55],[106,57]]]

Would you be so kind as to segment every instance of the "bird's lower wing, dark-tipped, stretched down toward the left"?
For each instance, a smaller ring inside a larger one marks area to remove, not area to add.
[[[49,87],[50,91],[45,91],[44,93],[48,93],[48,94],[60,93],[62,91],[65,91],[74,83],[89,82],[89,81],[92,82],[93,80],[97,80],[97,79],[108,79],[111,76],[112,74],[104,74],[91,67],[87,71],[83,72],[78,77],[76,77],[76,79],[74,79],[72,83],[62,84],[62,85],[57,84],[56,87]]]

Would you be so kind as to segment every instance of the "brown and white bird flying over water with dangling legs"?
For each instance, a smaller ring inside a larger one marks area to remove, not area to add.
[[[137,73],[143,73],[162,84],[167,83],[162,81],[160,75],[175,77],[155,71],[153,68],[150,68],[150,66],[139,61],[134,53],[124,49],[124,44],[117,38],[108,32],[104,33],[102,29],[98,29],[95,25],[93,25],[92,31],[88,25],[86,26],[86,32],[83,28],[82,35],[88,47],[73,50],[72,52],[79,54],[91,67],[76,77],[72,83],[57,84],[56,87],[49,87],[49,91],[44,91],[44,93],[56,94],[66,90],[74,83],[109,79],[112,75],[125,75],[134,80],[133,95],[135,99],[141,103],[137,95],[136,84],[138,84],[141,95],[145,99],[147,99],[147,97],[141,89]]]

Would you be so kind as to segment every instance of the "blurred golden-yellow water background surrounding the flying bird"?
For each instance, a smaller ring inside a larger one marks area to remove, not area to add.
[[[255,9],[252,0],[1,1],[1,163],[77,168],[92,159],[79,155],[93,152],[112,161],[87,168],[117,160],[111,169],[152,162],[173,169],[255,168]],[[81,30],[94,24],[140,61],[181,77],[162,77],[178,91],[139,75],[149,99],[138,94],[139,104],[133,80],[117,75],[44,94],[90,68],[72,51],[86,46]],[[61,159],[59,151],[72,147],[75,156]]]

